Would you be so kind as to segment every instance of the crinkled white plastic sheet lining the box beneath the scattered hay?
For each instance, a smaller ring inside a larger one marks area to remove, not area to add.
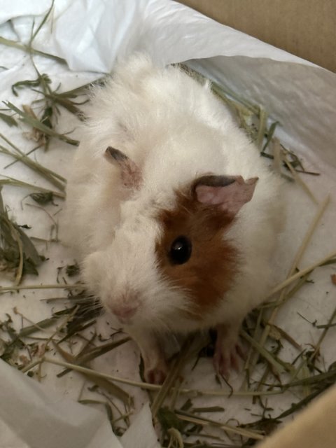
[[[50,1],[45,0],[0,0],[0,36],[27,43],[33,21],[38,24],[49,7]],[[10,24],[8,20],[11,20]],[[278,130],[281,140],[304,158],[307,169],[321,172],[321,176],[307,179],[318,200],[323,200],[328,193],[332,196],[332,204],[311,241],[302,267],[321,258],[332,247],[336,248],[333,202],[336,188],[335,73],[168,0],[55,0],[50,20],[36,36],[33,46],[66,59],[70,69],[51,59],[35,57],[39,71],[50,75],[53,87],[61,83],[61,90],[90,82],[102,73],[110,72],[117,58],[141,50],[148,52],[158,64],[189,61],[191,66],[224,83],[241,97],[262,104],[272,118],[281,123]],[[28,90],[22,90],[17,98],[10,90],[16,81],[36,78],[28,55],[0,45],[0,66],[5,67],[0,71],[1,99],[21,106],[37,98],[37,94]],[[59,129],[66,132],[75,128],[71,137],[80,139],[76,118],[64,115],[65,118],[59,120]],[[27,142],[22,137],[24,131],[27,131],[25,126],[8,128],[0,121],[0,132],[18,146],[24,147]],[[43,165],[66,174],[72,152],[73,148],[68,145],[53,141],[49,153],[38,153],[36,158]],[[1,168],[9,161],[1,156]],[[34,174],[19,164],[6,170],[5,174],[48,187],[48,183],[35,178]],[[22,192],[18,190],[5,188],[4,197],[18,222],[32,225],[32,235],[48,238],[48,216],[30,207],[22,210]],[[294,187],[293,202],[288,204],[288,208],[290,224],[281,242],[279,260],[274,264],[274,270],[279,270],[279,279],[286,274],[302,234],[316,211],[307,197]],[[49,261],[41,266],[38,283],[55,283],[57,267],[73,260],[76,254],[62,246],[50,246],[44,250]],[[332,272],[335,272],[332,266],[317,269],[314,272],[314,285],[304,286],[302,293],[293,297],[290,304],[286,304],[279,313],[277,323],[302,344],[316,342],[320,333],[307,321],[298,318],[297,312],[310,321],[328,321],[335,307],[335,286],[330,283]],[[28,276],[25,282],[36,283],[36,280]],[[1,284],[4,284],[3,281]],[[48,290],[43,295],[35,291],[2,295],[0,320],[6,312],[12,312],[13,306],[18,307],[31,321],[48,317],[50,307],[41,304],[40,299],[55,297],[57,294],[56,290]],[[336,359],[333,338],[335,331],[330,330],[322,347],[326,365]],[[288,349],[288,353],[290,350],[293,352],[293,349]],[[137,376],[137,356],[136,346],[129,343],[120,350],[108,353],[104,359],[96,360],[94,367],[112,373],[118,365],[118,370],[125,377],[132,378]],[[1,446],[117,448],[123,445],[123,448],[150,448],[157,445],[148,405],[142,407],[146,402],[145,393],[137,392],[139,414],[122,440],[118,441],[113,437],[104,414],[69,401],[78,396],[81,385],[78,377],[73,375],[57,379],[53,375],[55,371],[50,367],[43,379],[54,393],[57,392],[57,395],[50,395],[33,380],[0,363]],[[240,384],[241,377],[234,375],[232,385],[237,388]],[[188,376],[186,386],[216,386],[211,360],[200,360],[194,376],[191,379]],[[280,411],[288,407],[290,400],[290,397],[273,401],[269,398],[269,403]],[[5,402],[10,405],[3,406]],[[223,403],[225,412],[222,421],[232,416],[244,421],[249,415],[244,410],[246,403],[243,404],[241,400],[211,399],[211,405]]]

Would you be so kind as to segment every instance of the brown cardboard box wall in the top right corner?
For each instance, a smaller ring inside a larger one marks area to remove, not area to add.
[[[336,72],[335,0],[180,0],[180,3]]]

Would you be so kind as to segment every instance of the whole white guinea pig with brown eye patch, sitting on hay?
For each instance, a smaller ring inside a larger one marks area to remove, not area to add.
[[[281,181],[211,94],[144,55],[94,91],[67,190],[82,277],[165,379],[160,335],[216,328],[237,365],[239,325],[269,290]]]

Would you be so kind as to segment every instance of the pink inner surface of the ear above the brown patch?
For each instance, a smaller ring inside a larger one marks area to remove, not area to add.
[[[200,183],[195,188],[197,200],[202,204],[218,205],[223,211],[236,215],[246,202],[251,201],[258,177],[244,179],[235,176],[234,182],[226,186],[209,186]]]

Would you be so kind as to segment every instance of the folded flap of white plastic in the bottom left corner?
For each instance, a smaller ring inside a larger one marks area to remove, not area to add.
[[[0,361],[1,447],[122,448],[104,414],[59,395]],[[132,445],[131,445],[132,446]]]

